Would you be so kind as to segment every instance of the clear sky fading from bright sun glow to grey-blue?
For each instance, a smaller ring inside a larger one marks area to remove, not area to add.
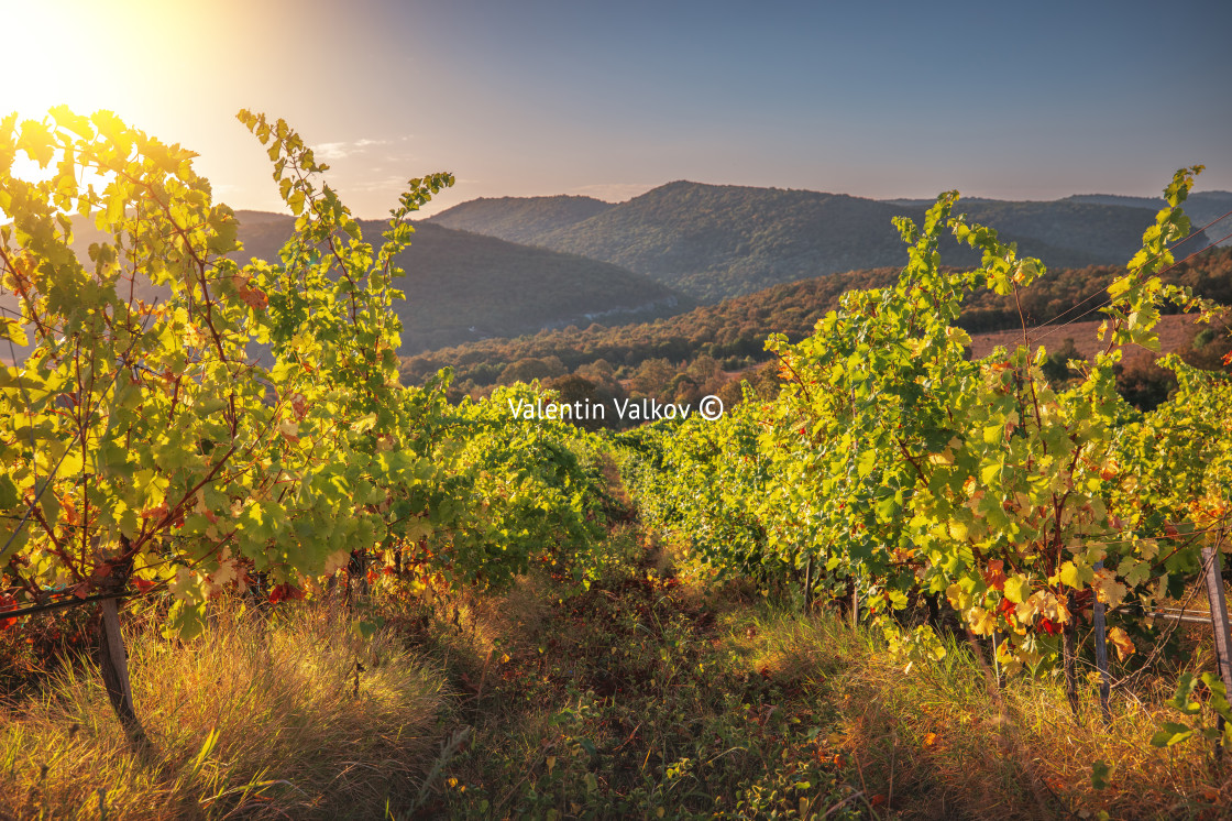
[[[673,180],[855,196],[1232,190],[1232,2],[0,0],[0,113],[108,108],[282,210],[283,117],[361,217]]]

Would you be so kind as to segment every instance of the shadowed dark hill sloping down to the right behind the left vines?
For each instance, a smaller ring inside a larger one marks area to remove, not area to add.
[[[291,217],[253,211],[237,217],[245,259],[276,259]],[[383,223],[360,224],[367,240],[381,242]],[[410,248],[397,263],[407,272],[394,281],[407,295],[395,306],[403,355],[542,328],[650,319],[692,307],[679,292],[610,263],[431,223],[416,224]]]

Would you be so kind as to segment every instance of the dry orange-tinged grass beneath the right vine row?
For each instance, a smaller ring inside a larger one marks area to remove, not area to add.
[[[1161,721],[1181,720],[1162,706],[1175,676],[1114,693],[1105,727],[1094,680],[1074,720],[1057,677],[998,688],[966,641],[904,673],[882,642],[833,615],[731,626],[729,641],[763,674],[832,689],[843,735],[835,750],[886,817],[1227,817],[1228,756],[1217,763],[1200,740],[1172,750],[1149,742]],[[1112,766],[1103,789],[1092,782],[1094,762]]]

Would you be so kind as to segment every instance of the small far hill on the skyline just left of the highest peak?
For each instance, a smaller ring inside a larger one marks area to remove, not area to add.
[[[429,222],[511,243],[541,244],[540,238],[614,208],[594,197],[479,197],[453,206]]]

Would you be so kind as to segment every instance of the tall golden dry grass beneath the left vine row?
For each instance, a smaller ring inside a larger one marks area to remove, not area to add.
[[[0,817],[384,817],[430,767],[442,682],[389,631],[324,605],[222,607],[179,643],[128,631],[150,745],[126,741],[97,669],[73,666],[0,726]],[[359,672],[356,693],[356,663]]]

